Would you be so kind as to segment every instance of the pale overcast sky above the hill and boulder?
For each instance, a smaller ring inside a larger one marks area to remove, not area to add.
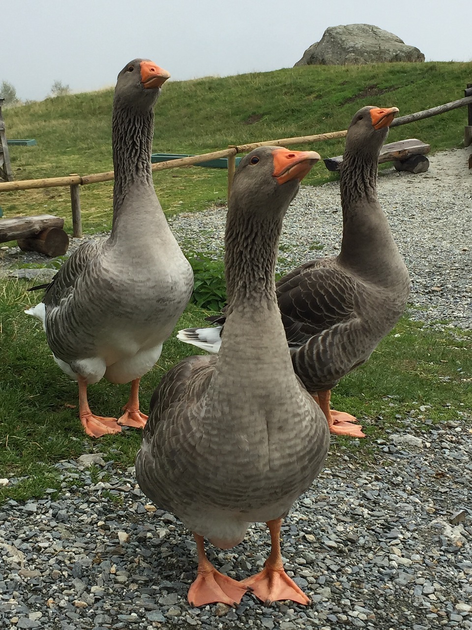
[[[54,81],[114,86],[136,57],[174,80],[291,67],[339,24],[379,26],[427,61],[472,60],[472,0],[1,0],[0,18],[0,83],[21,100]]]

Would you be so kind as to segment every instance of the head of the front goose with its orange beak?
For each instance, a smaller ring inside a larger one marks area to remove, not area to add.
[[[316,151],[289,151],[284,147],[258,147],[243,157],[236,169],[230,206],[239,212],[284,214],[300,181],[320,159]]]

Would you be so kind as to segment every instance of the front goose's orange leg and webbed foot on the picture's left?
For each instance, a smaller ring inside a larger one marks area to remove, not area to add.
[[[219,571],[206,557],[203,536],[193,532],[198,551],[198,570],[196,580],[193,581],[187,595],[191,606],[205,606],[215,602],[222,602],[230,606],[236,606],[242,596],[247,592],[247,587],[237,580],[228,578]]]

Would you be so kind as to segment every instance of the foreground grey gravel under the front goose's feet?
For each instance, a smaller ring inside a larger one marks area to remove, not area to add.
[[[468,425],[403,418],[373,452],[368,467],[355,454],[325,467],[286,519],[286,570],[312,598],[307,607],[245,595],[237,609],[190,608],[193,539],[147,503],[134,469],[120,473],[101,454],[60,462],[59,496],[0,508],[1,627],[472,629]],[[256,524],[242,544],[209,556],[245,578],[260,570],[268,542]]]

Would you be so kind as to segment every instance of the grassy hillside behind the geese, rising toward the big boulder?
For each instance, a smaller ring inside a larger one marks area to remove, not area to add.
[[[172,69],[170,69],[172,71]],[[305,66],[232,77],[167,83],[156,106],[153,150],[199,153],[228,144],[346,129],[364,105],[397,106],[400,115],[463,96],[472,63]],[[4,109],[7,137],[35,138],[37,147],[11,147],[16,180],[87,175],[109,171],[113,89],[48,98]],[[461,146],[464,108],[391,130],[389,140],[419,137],[432,151]],[[305,146],[294,148],[308,148]],[[317,144],[323,157],[342,153],[344,140]],[[318,164],[307,184],[335,178]],[[167,213],[203,210],[226,196],[223,169],[184,168],[155,173]],[[81,188],[85,231],[111,226],[113,183]],[[6,217],[48,212],[63,216],[70,229],[69,189],[0,193]]]

